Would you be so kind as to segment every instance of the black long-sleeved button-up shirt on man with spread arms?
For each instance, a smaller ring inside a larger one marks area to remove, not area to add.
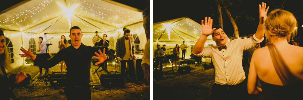
[[[103,50],[101,51],[103,52]],[[68,70],[66,73],[67,85],[89,85],[89,82],[91,82],[91,59],[92,56],[96,56],[95,52],[99,53],[98,48],[81,44],[78,49],[69,46],[60,50],[51,60],[42,60],[37,56],[34,62],[37,66],[51,68],[64,60],[67,67],[66,70]],[[114,58],[114,54],[111,52],[105,52],[105,54],[109,56],[108,60]]]

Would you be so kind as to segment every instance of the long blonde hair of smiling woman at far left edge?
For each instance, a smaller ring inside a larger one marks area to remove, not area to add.
[[[3,54],[0,54],[0,66],[3,66],[5,69],[12,71],[13,68],[11,66],[11,60],[9,60],[10,55],[8,55],[8,50],[7,47],[5,46],[5,36],[2,30],[0,30],[0,37],[3,36],[4,38],[4,52]],[[4,70],[5,71],[5,70]],[[3,76],[2,69],[0,68],[0,74]]]

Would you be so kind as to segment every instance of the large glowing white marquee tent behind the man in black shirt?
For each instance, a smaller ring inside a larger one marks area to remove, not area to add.
[[[107,34],[109,48],[115,48],[116,41],[123,37],[122,28],[131,30],[140,40],[139,49],[144,49],[146,35],[143,27],[142,10],[110,0],[25,0],[0,12],[0,29],[4,31],[14,59],[12,66],[25,64],[18,54],[19,49],[38,47],[38,37],[48,33],[53,39],[49,53],[59,51],[58,41],[61,35],[69,40],[69,29],[78,26],[82,30],[82,43],[94,46],[92,37],[95,31],[99,35]]]

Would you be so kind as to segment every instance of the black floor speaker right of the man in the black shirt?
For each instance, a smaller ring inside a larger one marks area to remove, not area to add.
[[[121,74],[101,74],[100,83],[102,85],[123,85],[124,79]]]

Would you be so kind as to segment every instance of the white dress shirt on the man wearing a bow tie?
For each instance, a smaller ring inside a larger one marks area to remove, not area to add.
[[[211,57],[215,66],[215,83],[220,85],[237,85],[245,79],[242,67],[243,50],[248,50],[264,40],[257,39],[255,34],[248,39],[227,41],[227,49],[218,50],[218,46],[204,47],[198,57]]]

